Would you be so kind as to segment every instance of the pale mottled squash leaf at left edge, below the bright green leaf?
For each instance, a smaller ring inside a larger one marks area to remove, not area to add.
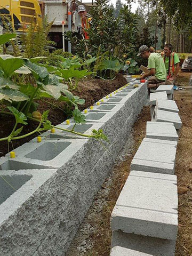
[[[28,100],[29,97],[18,91],[18,90],[13,90],[13,89],[0,89],[0,100],[7,100],[7,101],[23,101],[23,100]]]

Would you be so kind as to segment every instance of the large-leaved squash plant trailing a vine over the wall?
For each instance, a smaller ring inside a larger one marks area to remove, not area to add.
[[[2,35],[0,36],[0,43],[5,44],[10,38],[11,37],[5,37],[5,35]],[[9,145],[11,140],[22,139],[35,132],[41,133],[42,131],[49,130],[52,127],[77,135],[82,135],[83,137],[107,140],[107,137],[103,134],[102,130],[93,130],[91,135],[81,134],[74,131],[76,124],[85,123],[85,116],[82,115],[77,106],[77,104],[83,104],[84,100],[79,99],[79,97],[75,97],[71,92],[69,92],[67,90],[68,86],[61,83],[62,78],[58,78],[56,75],[50,74],[45,67],[38,66],[34,62],[37,62],[37,60],[14,58],[11,55],[0,55],[0,103],[3,102],[7,105],[7,109],[9,109],[9,111],[2,110],[0,113],[13,115],[15,117],[15,125],[12,132],[8,137],[1,138],[0,141],[7,140]],[[15,72],[20,74],[26,72],[31,73],[35,78],[36,85],[33,86],[31,84],[26,85],[14,83],[13,77]],[[35,99],[41,98],[54,98],[56,100],[65,101],[70,106],[74,106],[75,110],[72,111],[71,109],[71,114],[75,121],[73,128],[68,130],[53,126],[47,119],[49,110],[44,111],[42,115],[35,115],[35,117],[38,116],[38,118],[34,118],[34,109],[31,108],[31,106],[35,106]],[[34,131],[19,136],[23,126],[17,129],[17,125],[26,125],[28,119],[36,121],[39,124]]]

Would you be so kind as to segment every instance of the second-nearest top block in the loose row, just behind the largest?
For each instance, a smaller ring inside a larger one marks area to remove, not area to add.
[[[174,174],[177,141],[145,138],[131,162],[131,170]]]

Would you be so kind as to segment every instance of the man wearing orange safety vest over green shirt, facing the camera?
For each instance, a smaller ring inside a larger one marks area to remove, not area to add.
[[[165,44],[164,52],[161,55],[165,62],[167,80],[174,83],[180,68],[178,54],[173,52],[173,46],[171,44]]]

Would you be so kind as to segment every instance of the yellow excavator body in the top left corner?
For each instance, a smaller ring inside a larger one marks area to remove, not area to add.
[[[38,0],[0,0],[0,14],[9,17],[15,29],[28,27],[31,21],[42,22],[42,13]],[[0,25],[1,17],[0,17]]]

